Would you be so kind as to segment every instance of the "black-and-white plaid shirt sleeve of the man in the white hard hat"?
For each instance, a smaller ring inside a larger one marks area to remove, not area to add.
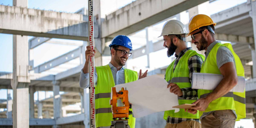
[[[201,66],[203,64],[203,60],[198,55],[193,55],[188,60],[189,65],[189,79],[190,82],[192,81],[192,74],[193,73],[200,73]],[[191,87],[181,88],[183,96],[180,96],[182,99],[193,99],[197,96],[197,89],[192,89]]]

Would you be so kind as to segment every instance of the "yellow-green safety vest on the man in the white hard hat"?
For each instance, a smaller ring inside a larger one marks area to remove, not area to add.
[[[175,71],[173,71],[174,63],[175,61],[172,62],[172,64],[169,65],[169,67],[166,69],[166,81],[168,83],[175,83],[177,84],[180,88],[185,88],[185,87],[191,87],[190,79],[189,79],[189,65],[188,65],[188,60],[191,56],[193,55],[198,55],[201,58],[204,59],[203,55],[199,55],[197,52],[194,50],[188,50],[179,60],[175,67]],[[198,98],[193,98],[193,99],[181,99],[178,97],[178,102],[179,105],[182,104],[192,104],[197,100]],[[167,119],[167,117],[177,117],[177,118],[190,118],[190,119],[198,119],[199,114],[193,115],[192,113],[185,112],[184,109],[180,109],[179,112],[175,113],[174,110],[170,111],[165,111],[163,118]]]

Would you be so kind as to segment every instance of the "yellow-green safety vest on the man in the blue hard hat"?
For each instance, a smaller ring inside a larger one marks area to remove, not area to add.
[[[115,86],[113,75],[109,65],[96,67],[98,76],[97,86],[95,87],[95,116],[96,128],[109,128],[113,115],[111,111],[111,87]],[[125,83],[136,81],[138,79],[137,72],[125,69]],[[132,111],[132,109],[129,109]],[[135,118],[129,115],[128,125],[135,128]]]

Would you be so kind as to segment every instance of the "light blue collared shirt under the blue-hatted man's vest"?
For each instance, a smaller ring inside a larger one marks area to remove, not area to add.
[[[124,69],[124,67],[122,67],[119,71],[117,71],[116,67],[114,67],[110,62],[108,63],[108,65],[111,69],[115,85],[124,84],[125,83],[125,69]],[[98,75],[97,75],[97,72],[96,72],[96,68],[94,67],[94,82],[96,83],[95,85],[97,85],[97,80],[98,80]],[[80,84],[81,88],[89,87],[89,73],[84,73],[83,69],[81,70],[79,84]]]

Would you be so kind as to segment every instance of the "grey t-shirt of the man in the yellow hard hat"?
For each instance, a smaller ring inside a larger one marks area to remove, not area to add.
[[[212,50],[212,48],[215,46],[215,44],[217,43],[221,43],[221,41],[214,41],[212,42],[212,44],[210,44],[207,48],[207,51],[205,52],[205,55],[206,55],[206,58],[205,60],[207,60],[207,57],[209,55],[209,52]],[[234,59],[234,56],[232,54],[232,52],[227,48],[227,47],[219,47],[218,48],[218,51],[217,51],[217,54],[216,54],[216,61],[217,61],[217,66],[218,66],[218,69],[220,69],[220,67],[223,65],[223,64],[226,64],[228,62],[233,62],[234,64],[235,63],[235,59]],[[232,110],[233,113],[236,115],[236,111]],[[204,112],[202,114],[202,116],[200,117],[200,119],[202,119],[203,117],[209,115],[210,113],[212,113],[214,111],[209,111],[209,112]],[[236,115],[237,117],[237,115]]]

